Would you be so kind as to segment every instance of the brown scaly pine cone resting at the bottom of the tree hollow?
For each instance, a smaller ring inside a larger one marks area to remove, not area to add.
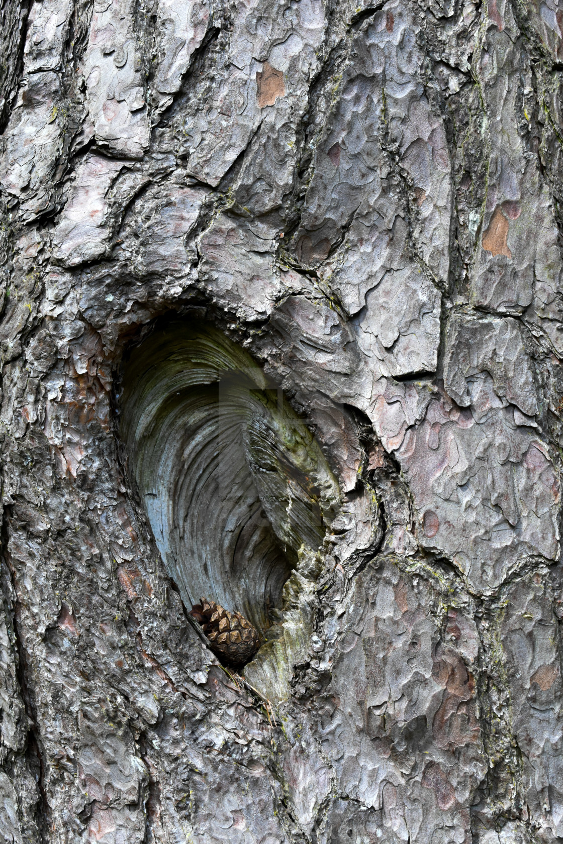
[[[200,601],[192,607],[190,615],[202,625],[214,654],[234,668],[249,662],[260,647],[256,628],[240,613],[230,613],[207,598]]]

